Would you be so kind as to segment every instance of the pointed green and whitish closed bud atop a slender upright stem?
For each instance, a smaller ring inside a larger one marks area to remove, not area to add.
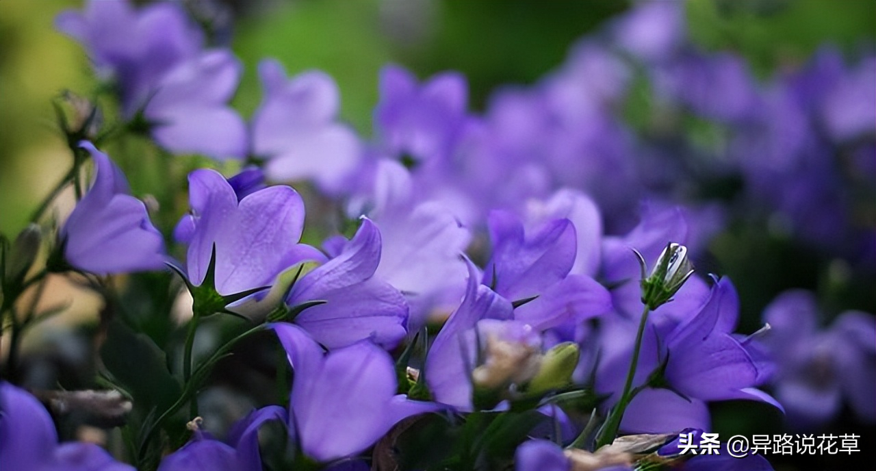
[[[642,271],[642,303],[651,309],[657,309],[671,300],[675,292],[694,273],[694,265],[688,258],[688,248],[680,243],[667,244],[647,278],[645,259],[638,251],[636,255]]]

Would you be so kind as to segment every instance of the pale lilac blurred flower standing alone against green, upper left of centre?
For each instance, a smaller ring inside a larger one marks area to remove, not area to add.
[[[267,160],[268,177],[313,179],[324,191],[339,191],[362,150],[353,130],[338,123],[335,81],[316,71],[289,81],[275,60],[263,60],[258,73],[265,96],[252,118],[252,151]]]

